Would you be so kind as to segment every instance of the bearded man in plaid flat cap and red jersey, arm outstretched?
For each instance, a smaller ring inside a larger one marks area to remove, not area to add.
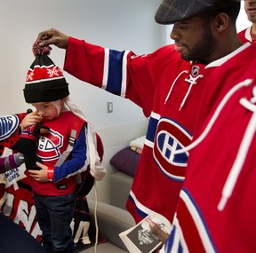
[[[172,222],[188,162],[188,153],[174,152],[191,142],[207,75],[245,47],[236,32],[239,10],[235,0],[164,0],[156,22],[174,24],[175,43],[142,56],[93,45],[56,29],[37,37],[42,46],[66,49],[64,70],[69,74],[131,99],[149,117],[126,203],[136,222],[152,210]]]

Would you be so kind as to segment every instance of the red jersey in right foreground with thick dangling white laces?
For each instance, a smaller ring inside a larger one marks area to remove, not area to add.
[[[161,252],[256,250],[255,53],[254,43],[208,76],[204,107],[212,110],[198,116],[196,146]]]

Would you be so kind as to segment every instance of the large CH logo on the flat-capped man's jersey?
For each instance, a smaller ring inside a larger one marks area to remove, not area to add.
[[[191,139],[192,136],[188,130],[182,128],[178,123],[167,118],[159,120],[153,154],[159,169],[168,178],[184,180],[188,153],[173,154],[173,152],[188,146]]]

